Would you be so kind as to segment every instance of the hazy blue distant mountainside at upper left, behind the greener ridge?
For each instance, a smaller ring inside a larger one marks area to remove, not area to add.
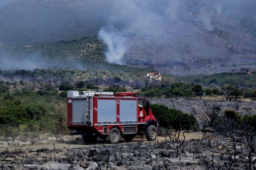
[[[0,8],[0,41],[38,44],[96,35],[106,20],[103,7],[103,0],[14,0]]]

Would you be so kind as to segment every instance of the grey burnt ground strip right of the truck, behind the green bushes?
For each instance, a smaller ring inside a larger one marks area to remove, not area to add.
[[[169,108],[173,108],[171,99],[153,99],[150,102],[153,104],[165,105]],[[204,107],[218,105],[223,111],[225,109],[233,109],[240,114],[256,114],[256,101],[238,100],[228,102],[223,100],[174,98],[173,103],[176,109],[185,113],[192,113],[193,111],[200,112]]]

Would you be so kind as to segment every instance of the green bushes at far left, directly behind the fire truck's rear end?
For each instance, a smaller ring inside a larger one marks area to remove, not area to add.
[[[26,88],[8,91],[1,85],[0,135],[15,137],[34,132],[51,132],[57,137],[67,134],[66,99],[51,85],[32,91]],[[10,128],[12,127],[12,128]]]

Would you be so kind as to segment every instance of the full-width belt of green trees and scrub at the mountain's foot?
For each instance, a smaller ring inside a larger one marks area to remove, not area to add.
[[[244,73],[244,72],[243,72]],[[247,72],[246,72],[247,73]],[[40,86],[45,85],[46,82],[54,83],[55,87],[59,87],[60,91],[73,90],[74,87],[81,89],[98,89],[97,85],[113,85],[116,87],[130,85],[134,89],[141,89],[141,94],[145,97],[202,97],[202,96],[218,96],[225,95],[227,101],[232,98],[245,97],[256,99],[255,90],[248,87],[240,87],[232,85],[235,83],[222,83],[221,76],[227,79],[234,79],[237,75],[242,73],[230,73],[230,74],[214,74],[212,76],[199,76],[194,82],[189,82],[191,77],[170,77],[163,76],[162,81],[149,81],[147,77],[144,77],[144,73],[126,73],[122,71],[102,71],[102,70],[73,70],[73,69],[35,69],[33,71],[28,70],[16,70],[16,71],[2,71],[2,75],[6,77],[12,77],[20,75],[24,77],[31,77],[39,83]],[[217,76],[218,75],[218,76]],[[254,72],[250,72],[250,75],[242,76],[256,76]],[[223,79],[224,79],[223,77]],[[202,79],[204,78],[204,79]],[[184,80],[182,80],[184,79]],[[201,80],[202,79],[202,80]],[[186,80],[186,81],[185,81]],[[206,83],[204,83],[204,82]],[[60,83],[58,83],[60,82]],[[201,83],[200,83],[201,82]],[[254,82],[251,82],[254,83]],[[10,83],[8,81],[0,81],[0,85],[26,85],[23,81],[20,83]],[[222,84],[222,85],[221,85]],[[230,85],[231,84],[231,85]],[[237,83],[242,85],[242,83]],[[221,85],[221,86],[220,86]],[[6,86],[0,86],[1,91],[6,91]],[[125,89],[108,89],[109,91],[118,92]],[[40,89],[37,92],[39,95],[49,94],[48,90]],[[61,94],[64,97],[64,92]]]

